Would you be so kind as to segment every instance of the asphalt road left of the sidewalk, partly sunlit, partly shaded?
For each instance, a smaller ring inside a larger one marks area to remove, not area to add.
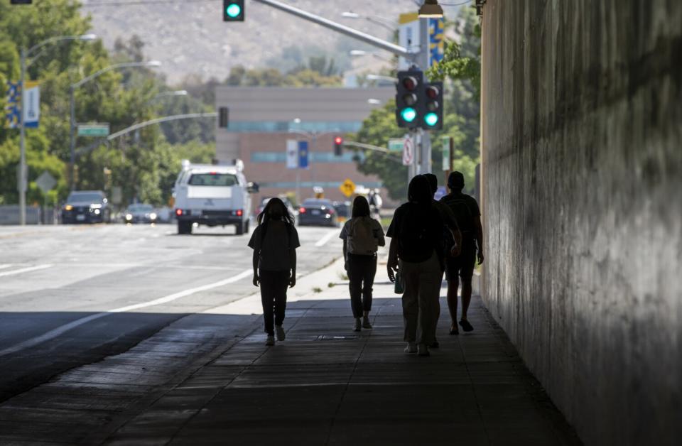
[[[299,276],[340,256],[340,229],[298,230]],[[248,240],[232,227],[0,227],[0,401],[254,293]]]

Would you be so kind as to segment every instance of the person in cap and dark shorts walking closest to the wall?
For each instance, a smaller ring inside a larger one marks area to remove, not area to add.
[[[474,265],[478,252],[478,264],[483,263],[483,226],[481,224],[481,211],[476,199],[462,193],[464,189],[464,175],[460,172],[450,173],[448,178],[450,194],[445,195],[440,201],[448,205],[462,232],[462,253],[458,257],[450,257],[446,262],[448,278],[448,308],[450,308],[450,335],[459,335],[457,327],[457,293],[462,279],[462,318],[460,326],[465,332],[474,330],[467,319],[467,311],[471,303],[472,278]],[[477,249],[478,248],[478,249]]]

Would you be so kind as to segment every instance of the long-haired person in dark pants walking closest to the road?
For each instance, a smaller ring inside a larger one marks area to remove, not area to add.
[[[293,217],[279,198],[272,198],[257,220],[249,241],[254,250],[254,285],[261,287],[266,345],[274,345],[275,332],[278,341],[286,337],[282,326],[286,289],[296,285],[296,248],[301,243]]]

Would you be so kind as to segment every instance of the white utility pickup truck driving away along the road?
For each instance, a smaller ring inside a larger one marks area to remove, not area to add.
[[[178,234],[192,234],[195,223],[210,227],[233,224],[237,235],[249,232],[249,194],[258,192],[258,185],[247,183],[243,169],[242,161],[234,165],[183,161],[174,193]]]

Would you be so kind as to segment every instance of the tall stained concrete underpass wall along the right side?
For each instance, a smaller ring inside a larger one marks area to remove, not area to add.
[[[682,1],[482,32],[487,305],[587,445],[682,444]]]

